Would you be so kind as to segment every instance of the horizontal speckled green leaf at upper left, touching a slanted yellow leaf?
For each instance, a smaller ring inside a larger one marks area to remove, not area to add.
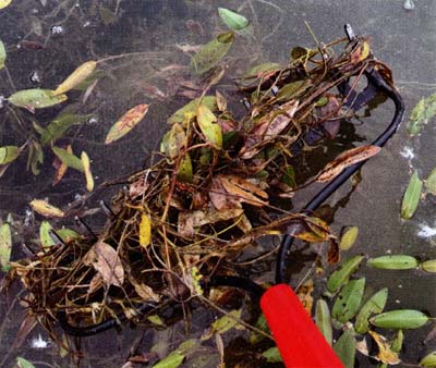
[[[43,109],[66,100],[66,95],[55,96],[50,89],[23,89],[8,98],[9,102],[20,108]]]

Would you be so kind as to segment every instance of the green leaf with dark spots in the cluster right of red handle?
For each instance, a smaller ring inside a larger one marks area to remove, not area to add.
[[[362,304],[364,290],[364,278],[349,281],[336,298],[331,317],[342,323],[353,318]]]

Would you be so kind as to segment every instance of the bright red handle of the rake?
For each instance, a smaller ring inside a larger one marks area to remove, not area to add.
[[[261,308],[287,368],[343,368],[290,286],[269,287]]]

